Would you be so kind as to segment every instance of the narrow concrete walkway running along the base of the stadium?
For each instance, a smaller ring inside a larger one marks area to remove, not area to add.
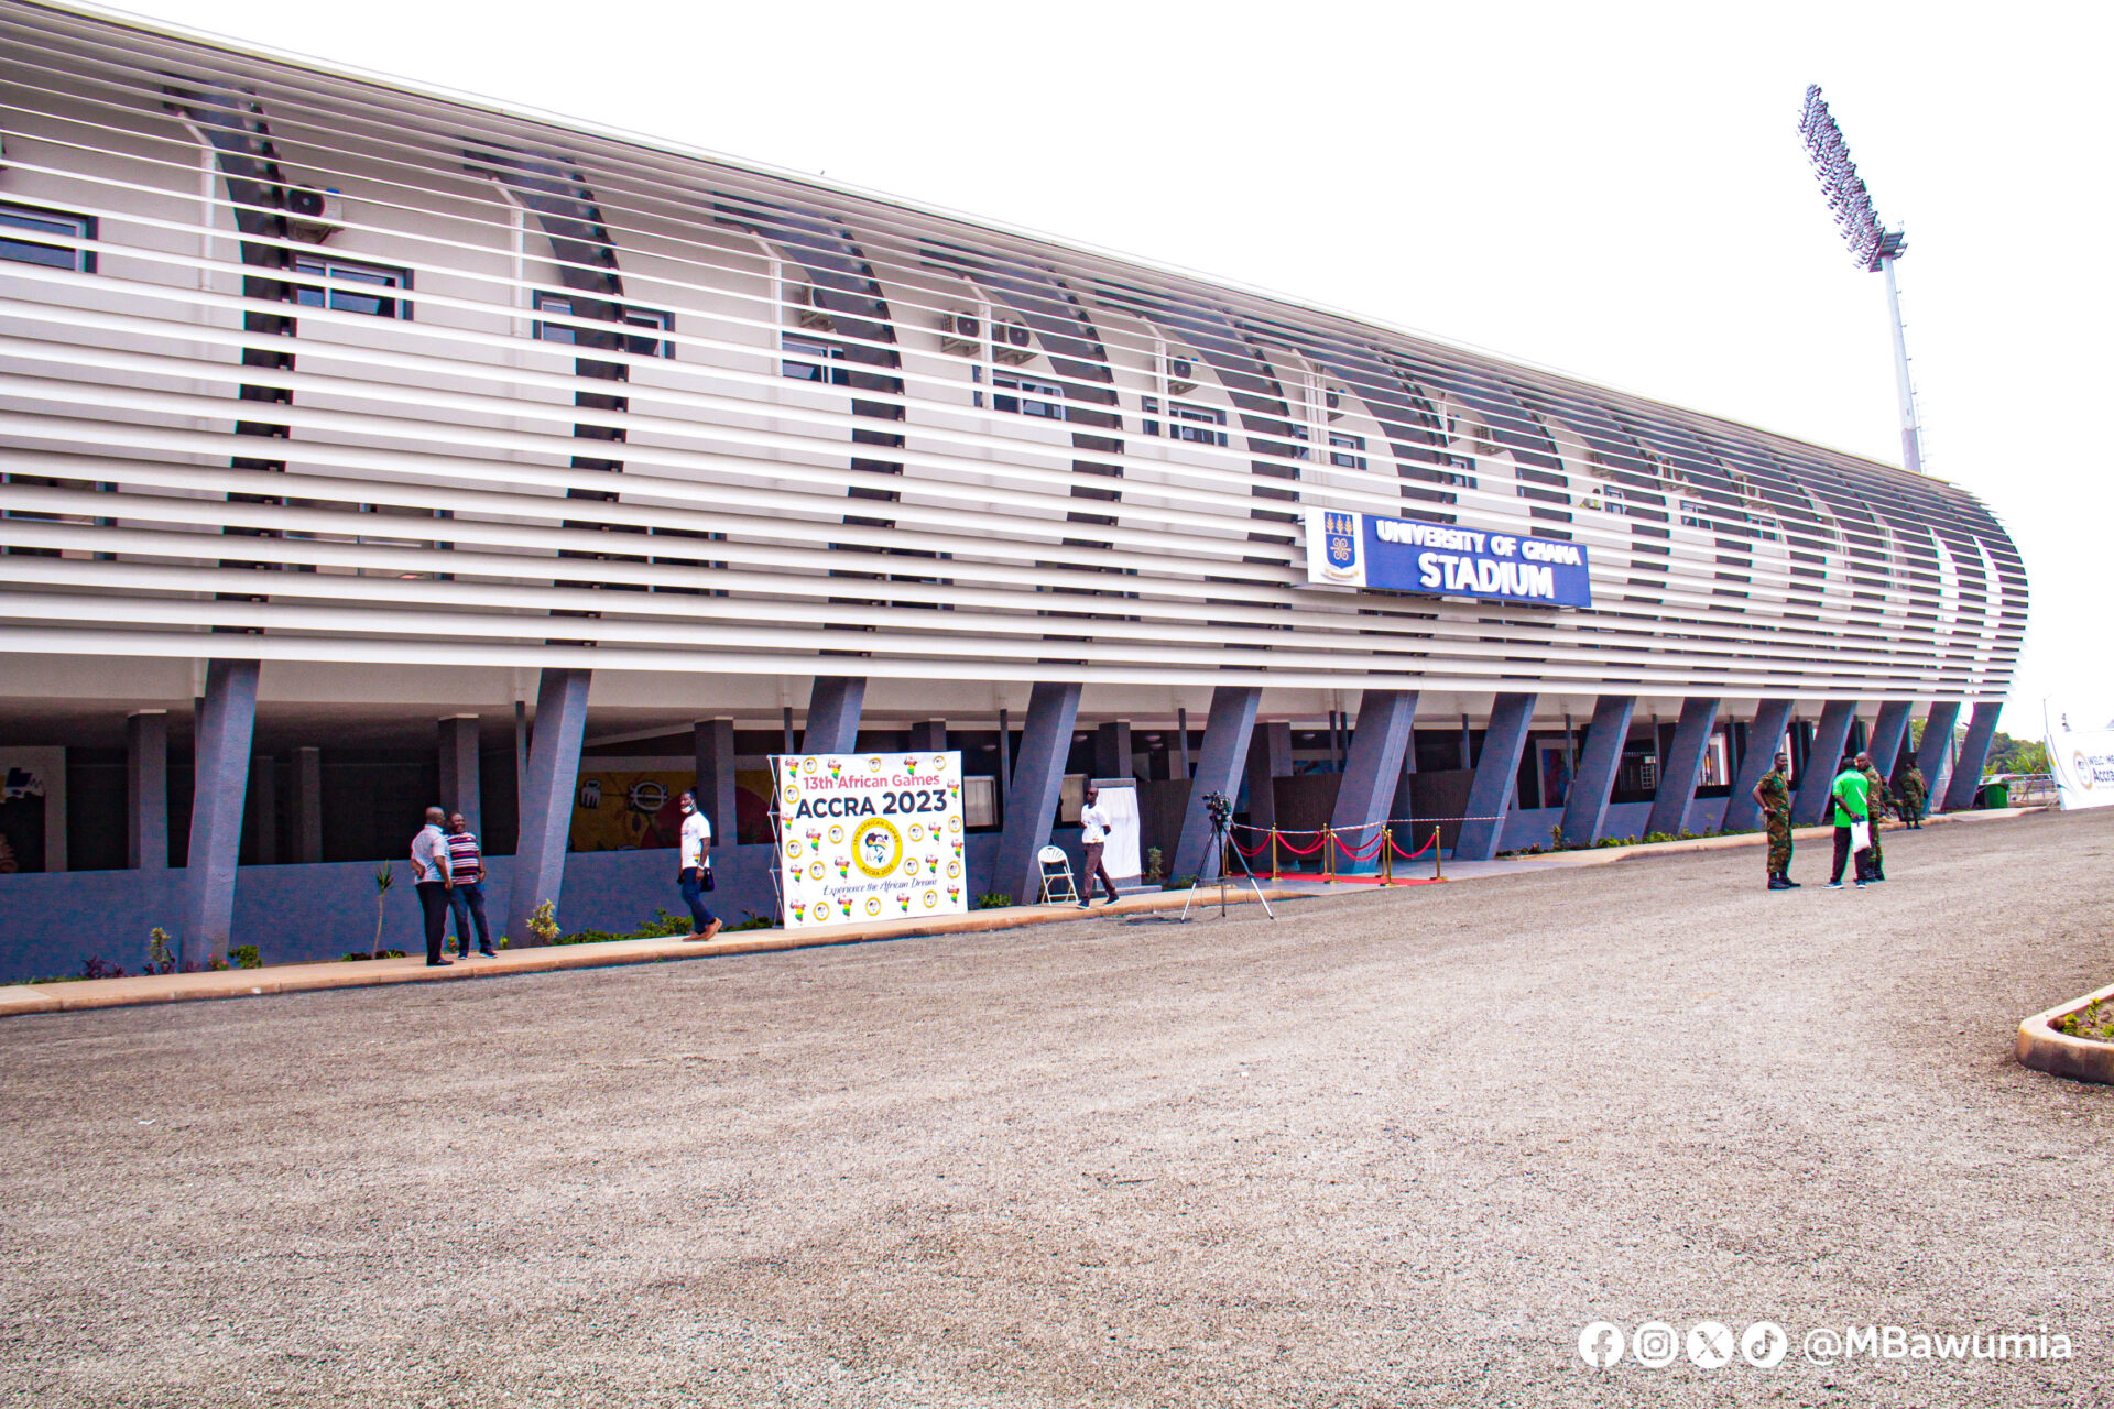
[[[1930,824],[1945,822],[1994,822],[2017,818],[2032,807],[2010,807],[2002,811],[1968,811],[1930,818]],[[1799,841],[1826,841],[1831,828],[1799,828]],[[1446,881],[1480,881],[1537,870],[1562,870],[1575,866],[1607,866],[1634,856],[1664,856],[1670,851],[1717,851],[1725,847],[1755,847],[1765,837],[1748,832],[1738,837],[1700,837],[1691,841],[1662,841],[1636,847],[1592,847],[1583,851],[1552,851],[1545,856],[1514,856],[1495,862],[1448,862]],[[1395,885],[1429,881],[1431,868],[1418,864],[1414,875],[1404,868]],[[1372,881],[1309,881],[1279,879],[1262,894],[1275,900],[1300,900],[1313,896],[1340,896],[1383,889]],[[1108,915],[1156,915],[1180,910],[1188,891],[1144,891],[1125,896],[1114,906],[1095,904],[1095,919]],[[1197,894],[1199,908],[1216,908],[1218,885],[1205,885]],[[1256,887],[1245,881],[1226,887],[1232,904],[1254,904]],[[755,955],[784,948],[820,948],[829,944],[867,944],[875,940],[903,940],[928,934],[981,934],[987,929],[1017,929],[1023,925],[1061,925],[1084,919],[1078,906],[1034,904],[1006,906],[1002,910],[970,910],[945,919],[898,919],[873,925],[814,925],[808,929],[744,929],[723,934],[710,944],[689,944],[685,940],[609,940],[605,944],[541,944],[535,948],[501,951],[493,959],[471,957],[448,967],[427,967],[423,957],[368,959],[334,963],[275,963],[262,970],[218,970],[207,974],[135,974],[127,978],[85,978],[44,984],[0,987],[0,1018],[30,1012],[76,1012],[87,1008],[133,1008],[140,1003],[184,1003],[194,999],[262,997],[266,993],[313,993],[321,989],[370,989],[378,984],[404,982],[463,982],[471,978],[501,978],[509,974],[552,974],[558,970],[594,970],[624,963],[674,963],[681,959],[712,959],[723,955]]]

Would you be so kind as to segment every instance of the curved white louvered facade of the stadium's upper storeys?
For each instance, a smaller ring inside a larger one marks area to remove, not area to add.
[[[80,222],[4,230],[70,251],[0,262],[17,670],[2013,676],[2023,566],[1936,480],[668,144],[30,4],[0,46],[0,207]],[[1573,537],[1594,606],[1309,587],[1302,507]]]

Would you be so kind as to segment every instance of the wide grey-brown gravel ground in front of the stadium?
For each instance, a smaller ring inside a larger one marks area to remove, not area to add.
[[[2110,843],[11,1018],[0,1403],[2108,1405],[2114,1088],[2010,1044],[2114,978]]]

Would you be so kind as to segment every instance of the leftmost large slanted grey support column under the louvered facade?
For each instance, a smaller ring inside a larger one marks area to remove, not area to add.
[[[249,739],[258,716],[258,663],[211,661],[199,708],[190,862],[184,872],[184,963],[228,957],[235,925],[235,868],[241,862],[243,803],[249,794]]]

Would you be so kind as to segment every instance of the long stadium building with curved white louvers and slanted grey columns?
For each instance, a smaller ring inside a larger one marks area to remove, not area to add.
[[[1753,826],[1784,737],[1814,820],[1911,718],[1972,801],[2027,587],[1939,480],[127,17],[0,46],[0,978],[366,948],[433,801],[516,944],[679,908],[691,779],[767,913],[795,750],[962,750],[1015,896],[1089,777],[1169,875],[1209,792]]]

